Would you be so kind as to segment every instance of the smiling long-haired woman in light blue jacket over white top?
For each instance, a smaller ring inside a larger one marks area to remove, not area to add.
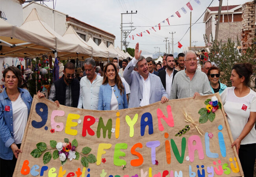
[[[104,68],[103,82],[100,86],[98,110],[119,110],[128,108],[126,92],[117,68],[108,63]]]

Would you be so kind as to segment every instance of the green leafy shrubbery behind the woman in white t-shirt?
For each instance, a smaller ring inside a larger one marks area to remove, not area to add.
[[[204,36],[204,42],[206,44],[206,48],[209,48],[210,50],[210,61],[215,62],[218,68],[221,70],[221,83],[226,84],[228,87],[232,86],[230,76],[232,67],[235,63],[251,63],[255,67],[255,44],[252,44],[250,48],[243,50],[243,52],[239,54],[237,48],[240,48],[241,44],[238,40],[238,37],[236,42],[231,41],[231,39],[228,38],[228,41],[224,43],[222,41],[213,41],[213,38],[211,38],[210,41],[206,36]],[[254,72],[251,77],[253,81],[251,83],[255,83],[255,76],[256,72],[254,68]],[[255,90],[255,85],[251,85],[251,88],[253,87]]]

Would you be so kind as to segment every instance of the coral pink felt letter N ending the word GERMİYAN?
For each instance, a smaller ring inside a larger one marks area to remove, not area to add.
[[[165,117],[165,115],[163,114],[161,109],[158,108],[157,111],[156,111],[157,117],[158,117],[158,129],[160,131],[164,130],[162,122],[161,122],[161,118],[163,120],[165,120],[165,122],[167,123],[167,125],[169,125],[169,127],[174,127],[172,108],[171,108],[170,105],[167,105],[166,109],[167,109],[168,118]]]

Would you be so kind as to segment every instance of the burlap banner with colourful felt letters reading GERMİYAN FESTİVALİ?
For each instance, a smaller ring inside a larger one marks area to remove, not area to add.
[[[34,96],[13,176],[242,176],[213,96],[220,100],[212,94],[119,111],[58,108]]]

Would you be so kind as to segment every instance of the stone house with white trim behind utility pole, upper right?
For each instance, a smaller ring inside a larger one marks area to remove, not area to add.
[[[206,37],[211,40],[215,38],[215,29],[218,18],[219,6],[209,7],[204,15]],[[228,38],[236,42],[242,39],[242,5],[222,6],[219,24],[218,41],[227,42]],[[212,36],[211,36],[212,35]]]

